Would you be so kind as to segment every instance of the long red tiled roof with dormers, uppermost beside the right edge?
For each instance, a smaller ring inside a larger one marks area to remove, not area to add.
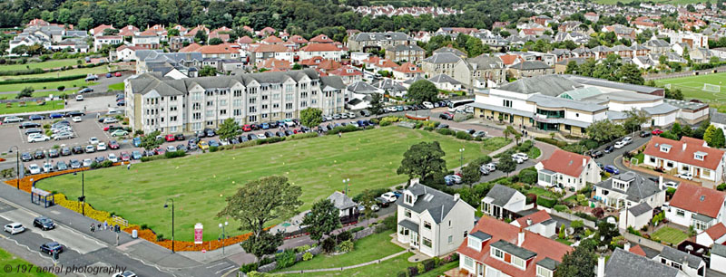
[[[671,145],[671,150],[668,153],[662,152],[660,148],[662,144]],[[686,145],[685,150],[682,148],[683,144]],[[661,137],[653,137],[651,141],[648,142],[648,146],[645,147],[645,151],[643,151],[643,153],[645,153],[645,155],[673,160],[695,167],[716,170],[716,168],[719,167],[719,164],[721,164],[721,158],[723,158],[724,153],[723,150],[709,148],[703,145],[704,141],[702,139],[682,137],[681,140],[672,140]],[[703,158],[703,160],[698,160],[693,157],[695,152],[704,152],[707,155]]]

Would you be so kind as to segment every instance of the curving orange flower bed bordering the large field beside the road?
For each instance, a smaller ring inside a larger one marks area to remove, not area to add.
[[[64,175],[68,173],[74,173],[76,171],[81,170],[87,170],[86,168],[78,168],[78,169],[69,169],[59,172],[51,172],[51,173],[44,173],[44,174],[36,174],[31,177],[23,177],[20,179],[20,189],[30,193],[31,189],[33,188],[34,182],[41,180],[43,178],[47,177],[54,177],[58,175]],[[8,186],[17,186],[17,180],[7,180],[5,181],[5,184]],[[72,210],[76,213],[81,214],[83,207],[81,203],[74,200],[68,200],[68,198],[64,194],[55,194],[54,195],[55,204],[61,205],[69,210]],[[93,218],[93,220],[96,220],[98,222],[108,222],[110,224],[113,224],[113,216],[106,211],[99,211],[93,208],[92,205],[85,203],[85,216],[88,216],[90,218]],[[265,228],[265,230],[270,230],[270,228],[274,227],[274,225]],[[133,230],[137,230],[137,234],[140,238],[147,240],[149,242],[152,242],[154,244],[159,244],[162,247],[165,247],[167,249],[172,249],[172,240],[163,239],[162,241],[157,240],[156,233],[154,233],[151,229],[144,229],[142,230],[141,226],[138,224],[129,224],[128,227],[123,228],[123,232],[126,232],[128,234],[132,234]],[[250,238],[250,235],[252,233],[247,234],[240,234],[237,236],[229,237],[223,240],[214,240],[214,241],[208,241],[204,242],[203,244],[194,244],[194,242],[185,242],[185,241],[175,241],[174,242],[174,251],[201,251],[202,249],[206,249],[208,251],[219,249],[222,246],[229,246],[232,244],[240,244],[241,242],[244,242],[248,238]]]

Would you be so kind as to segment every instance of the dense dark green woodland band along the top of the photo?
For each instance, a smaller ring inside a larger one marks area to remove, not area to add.
[[[113,24],[115,27],[132,24],[142,29],[153,24],[205,24],[212,28],[249,25],[255,30],[268,26],[276,30],[287,29],[291,34],[307,38],[326,33],[331,38],[342,40],[346,29],[409,32],[435,31],[441,26],[491,28],[495,21],[511,21],[531,15],[511,8],[513,3],[525,0],[437,0],[430,3],[461,9],[465,14],[436,19],[430,15],[373,18],[356,14],[345,6],[367,3],[358,2],[361,1],[16,0],[0,2],[0,27],[22,26],[34,18],[56,24],[74,24],[80,30],[88,30],[99,24]]]

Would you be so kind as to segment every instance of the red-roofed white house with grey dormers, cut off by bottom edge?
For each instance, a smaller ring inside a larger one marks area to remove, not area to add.
[[[465,276],[554,276],[573,248],[483,216],[456,250]]]

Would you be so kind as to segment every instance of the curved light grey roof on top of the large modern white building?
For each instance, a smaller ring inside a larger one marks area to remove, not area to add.
[[[581,87],[583,87],[583,85],[570,81],[562,77],[562,75],[542,75],[510,82],[500,86],[498,89],[525,94],[539,92],[544,95],[558,96],[564,91],[572,91]]]

